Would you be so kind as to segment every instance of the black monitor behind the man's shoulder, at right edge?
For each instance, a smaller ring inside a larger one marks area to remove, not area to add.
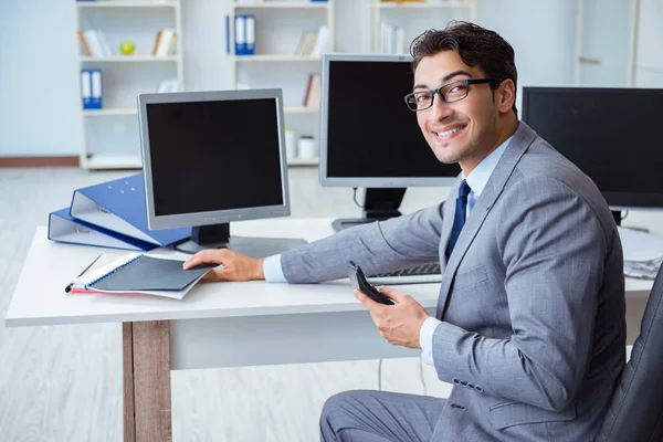
[[[663,208],[663,90],[524,87],[523,120],[598,186],[613,210]]]

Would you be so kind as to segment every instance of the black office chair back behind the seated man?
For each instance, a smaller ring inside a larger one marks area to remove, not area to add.
[[[663,266],[597,442],[663,441]]]

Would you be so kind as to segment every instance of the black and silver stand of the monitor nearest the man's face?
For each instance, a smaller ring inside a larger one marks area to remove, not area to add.
[[[335,232],[355,225],[400,217],[398,210],[407,188],[367,188],[364,194],[362,218],[341,218],[332,222]]]

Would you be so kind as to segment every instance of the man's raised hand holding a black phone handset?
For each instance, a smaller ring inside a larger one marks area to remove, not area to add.
[[[376,303],[364,293],[355,290],[357,299],[370,312],[380,336],[391,345],[408,348],[421,348],[419,332],[421,325],[429,317],[428,312],[412,296],[390,287],[378,288],[380,293],[396,301],[397,305]]]

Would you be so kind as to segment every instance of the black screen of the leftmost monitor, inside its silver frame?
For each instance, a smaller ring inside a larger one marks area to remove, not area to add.
[[[157,217],[283,204],[275,99],[146,109]]]

